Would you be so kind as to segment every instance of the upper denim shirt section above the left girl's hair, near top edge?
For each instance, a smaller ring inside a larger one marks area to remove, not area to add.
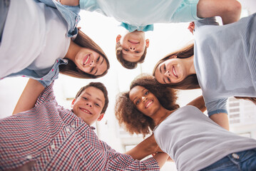
[[[58,9],[58,11],[63,16],[63,19],[65,19],[68,24],[67,36],[68,37],[76,36],[76,34],[78,33],[78,28],[76,26],[80,21],[80,16],[78,15],[78,13],[80,12],[79,6],[65,6],[65,5],[62,5],[59,1],[55,1],[55,0],[34,0],[34,1],[42,2],[47,6]]]

